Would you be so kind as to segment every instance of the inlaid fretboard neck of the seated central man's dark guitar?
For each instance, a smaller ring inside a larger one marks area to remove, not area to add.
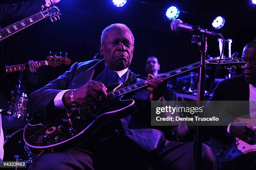
[[[182,67],[180,69],[176,69],[174,71],[170,71],[168,73],[162,74],[161,76],[158,76],[158,77],[162,77],[165,80],[168,80],[168,79],[174,78],[180,74],[183,74],[185,72],[197,69],[199,67],[199,64],[200,64],[200,62],[193,63],[188,66]],[[148,80],[150,80],[150,79],[148,79]],[[115,90],[113,92],[109,92],[107,99],[113,99],[116,97],[120,97],[120,96],[123,96],[124,94],[136,92],[136,91],[145,89],[147,87],[148,87],[148,85],[145,84],[145,81],[139,81],[136,84],[131,84],[129,86],[125,86],[125,87]]]

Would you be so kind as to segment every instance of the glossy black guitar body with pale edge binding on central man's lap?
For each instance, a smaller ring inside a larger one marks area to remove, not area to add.
[[[120,84],[108,86],[115,91]],[[69,119],[45,120],[31,119],[26,125],[23,137],[26,145],[34,153],[58,152],[75,147],[86,141],[104,123],[126,117],[136,112],[133,99],[113,99],[101,104],[80,107],[71,113]]]

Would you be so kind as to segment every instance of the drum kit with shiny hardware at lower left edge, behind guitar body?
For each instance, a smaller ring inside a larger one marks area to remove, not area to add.
[[[36,158],[23,140],[23,129],[28,122],[26,105],[28,95],[23,92],[22,75],[18,80],[15,91],[11,91],[10,97],[3,109],[0,109],[2,116],[2,127],[4,132],[4,158],[3,161],[25,161],[32,163]]]

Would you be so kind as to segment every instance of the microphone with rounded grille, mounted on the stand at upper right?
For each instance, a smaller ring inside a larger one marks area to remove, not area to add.
[[[182,31],[190,32],[193,27],[194,27],[194,25],[189,25],[187,23],[183,23],[182,20],[179,20],[179,19],[173,20],[171,23],[171,28],[174,31],[182,30]],[[214,36],[214,37],[222,37],[222,35],[220,33],[215,33],[215,32],[209,31],[207,29],[203,29],[203,28],[200,28],[200,33],[206,34],[209,36]]]

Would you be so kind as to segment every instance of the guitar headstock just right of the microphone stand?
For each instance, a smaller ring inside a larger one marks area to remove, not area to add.
[[[212,64],[212,65],[219,64],[220,66],[225,66],[225,68],[231,68],[233,66],[243,66],[246,62],[244,62],[240,58],[231,57],[231,58],[223,58],[221,60],[219,60],[219,59],[205,60],[205,63],[207,65],[208,64]]]

